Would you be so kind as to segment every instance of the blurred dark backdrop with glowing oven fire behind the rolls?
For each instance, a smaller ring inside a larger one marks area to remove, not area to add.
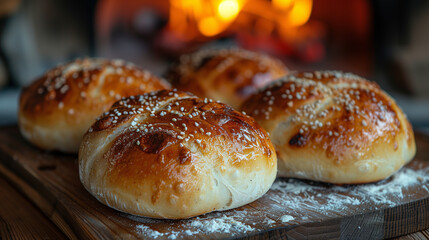
[[[429,132],[428,0],[0,0],[0,125],[59,63],[121,58],[162,75],[183,53],[230,46],[364,76]]]

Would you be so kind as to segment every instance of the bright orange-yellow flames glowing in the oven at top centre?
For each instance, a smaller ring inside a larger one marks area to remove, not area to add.
[[[170,0],[168,28],[183,40],[215,37],[253,22],[271,34],[304,25],[312,5],[312,0]]]

